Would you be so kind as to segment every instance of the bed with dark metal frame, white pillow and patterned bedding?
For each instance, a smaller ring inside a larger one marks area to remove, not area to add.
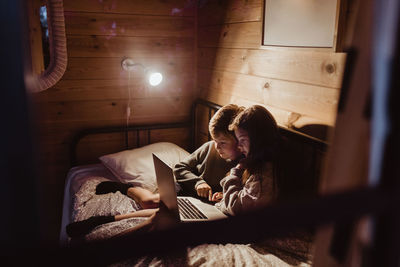
[[[113,129],[90,129],[79,133],[74,141],[71,162],[76,164],[76,146],[80,140],[89,134],[98,132],[114,132],[136,130],[150,131],[152,129],[169,129],[189,126],[191,144],[185,149],[172,142],[151,142],[133,149],[124,149],[115,153],[101,155],[99,162],[88,165],[78,165],[70,169],[64,189],[63,218],[60,231],[60,244],[63,247],[73,247],[76,240],[71,240],[65,231],[67,224],[80,221],[95,215],[118,215],[141,209],[140,205],[119,191],[96,195],[95,188],[102,181],[114,180],[140,185],[156,192],[154,168],[151,153],[156,153],[170,166],[175,165],[192,151],[198,143],[210,137],[206,129],[201,129],[204,120],[208,122],[218,105],[197,100],[192,108],[191,121],[183,124],[161,124],[150,126],[135,126],[130,129],[116,127]],[[205,117],[205,119],[204,119]],[[203,123],[202,123],[203,122]],[[204,127],[203,127],[204,128]],[[281,129],[284,138],[290,142],[292,166],[288,171],[295,172],[295,179],[287,179],[282,186],[287,188],[287,200],[291,197],[312,196],[316,192],[319,166],[326,144],[301,133]],[[137,134],[139,137],[140,135]],[[149,135],[148,135],[149,136]],[[197,140],[197,141],[196,141]],[[141,142],[136,140],[137,144]],[[126,143],[128,137],[126,135]],[[189,150],[189,151],[188,151]],[[307,154],[307,157],[304,157]],[[290,158],[288,155],[288,158]],[[299,159],[303,159],[299,162]],[[306,159],[306,160],[304,160]],[[300,170],[301,168],[301,170]],[[293,171],[296,170],[296,171]],[[301,182],[297,181],[302,179]],[[107,223],[96,227],[90,233],[78,240],[79,244],[107,240],[122,231],[133,227],[145,218],[130,218]],[[111,266],[311,266],[313,254],[313,234],[310,229],[297,231],[277,238],[257,240],[257,242],[232,243],[213,242],[188,245],[176,253],[154,254],[124,257],[113,261]],[[162,255],[162,256],[161,256]]]

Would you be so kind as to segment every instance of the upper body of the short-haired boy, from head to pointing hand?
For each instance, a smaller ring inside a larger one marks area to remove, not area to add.
[[[243,110],[234,104],[219,109],[208,126],[213,140],[175,165],[174,176],[182,188],[180,195],[199,196],[211,201],[213,192],[222,191],[220,180],[236,165],[241,155],[235,135],[228,126]]]

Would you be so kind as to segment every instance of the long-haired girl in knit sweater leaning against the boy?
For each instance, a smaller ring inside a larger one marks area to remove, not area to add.
[[[223,191],[214,193],[212,200],[221,199],[216,206],[236,215],[276,201],[279,132],[271,113],[259,105],[238,114],[229,129],[235,132],[245,158],[221,180]]]

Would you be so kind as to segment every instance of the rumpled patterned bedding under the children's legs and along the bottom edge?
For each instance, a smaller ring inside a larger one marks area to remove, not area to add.
[[[120,192],[96,195],[95,188],[114,177],[98,175],[98,171],[81,170],[70,178],[72,193],[70,218],[80,221],[94,215],[117,215],[140,209],[131,198]],[[103,170],[104,171],[104,170]],[[88,175],[89,174],[89,175]],[[104,173],[103,173],[104,174]],[[76,179],[76,181],[74,180]],[[67,182],[68,183],[68,182]],[[86,241],[109,238],[141,223],[146,218],[130,218],[97,226],[84,237]],[[146,255],[114,263],[111,266],[311,266],[312,239],[309,236],[268,239],[254,244],[202,244],[187,247],[168,255]]]

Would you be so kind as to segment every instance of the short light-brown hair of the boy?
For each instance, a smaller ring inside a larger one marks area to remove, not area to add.
[[[228,104],[220,108],[214,116],[212,116],[210,123],[208,124],[208,130],[210,131],[211,137],[218,136],[220,134],[231,135],[235,137],[232,130],[229,130],[229,125],[236,117],[237,114],[242,112],[244,107]]]

